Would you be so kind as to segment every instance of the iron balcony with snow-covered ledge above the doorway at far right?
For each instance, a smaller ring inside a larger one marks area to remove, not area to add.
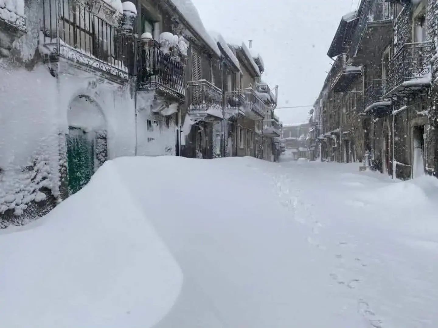
[[[406,97],[431,86],[431,41],[406,43],[389,62],[385,97]]]

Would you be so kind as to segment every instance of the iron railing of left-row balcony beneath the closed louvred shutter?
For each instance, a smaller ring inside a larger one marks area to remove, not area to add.
[[[222,110],[222,90],[207,80],[187,82],[187,98],[189,110]]]

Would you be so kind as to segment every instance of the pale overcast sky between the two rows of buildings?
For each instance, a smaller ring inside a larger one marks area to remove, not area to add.
[[[311,105],[331,59],[327,50],[341,17],[358,0],[192,0],[207,31],[253,40],[265,62],[263,79],[279,85],[279,105]],[[276,109],[283,123],[307,120],[311,107]]]

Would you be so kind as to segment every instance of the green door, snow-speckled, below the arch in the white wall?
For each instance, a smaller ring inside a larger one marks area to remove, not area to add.
[[[68,189],[72,195],[82,189],[94,173],[94,138],[79,128],[67,135]]]

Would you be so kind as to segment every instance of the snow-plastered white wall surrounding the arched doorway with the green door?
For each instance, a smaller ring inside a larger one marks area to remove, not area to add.
[[[99,105],[107,123],[108,157],[135,154],[135,108],[128,87],[96,83],[92,73],[50,75],[45,65],[32,71],[0,66],[0,214],[43,200],[42,187],[59,195],[59,149],[68,132],[67,110],[79,95]],[[25,169],[28,167],[28,169]],[[29,171],[30,169],[30,171]]]

